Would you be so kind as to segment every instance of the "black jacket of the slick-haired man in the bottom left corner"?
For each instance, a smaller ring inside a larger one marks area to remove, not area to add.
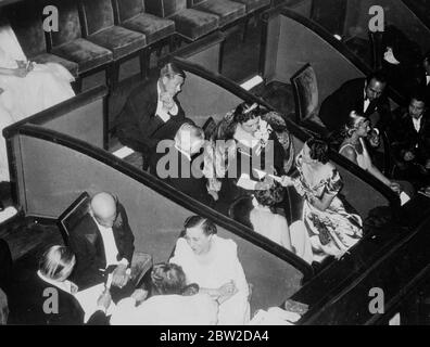
[[[49,292],[48,292],[49,290]],[[52,290],[55,290],[52,292]],[[47,292],[46,292],[47,291]],[[55,294],[52,294],[55,293]],[[58,294],[58,312],[46,312],[43,305],[53,308],[53,300]],[[50,301],[51,300],[51,301]],[[84,310],[77,299],[55,286],[45,282],[37,273],[33,273],[26,281],[20,283],[9,300],[11,324],[31,325],[81,325],[84,324]],[[106,316],[98,310],[87,324],[108,325]]]

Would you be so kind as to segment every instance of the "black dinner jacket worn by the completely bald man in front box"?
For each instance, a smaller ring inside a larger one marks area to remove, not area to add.
[[[135,236],[128,224],[127,214],[119,203],[117,204],[117,218],[112,228],[118,260],[126,258],[131,264],[135,250]],[[106,267],[103,240],[99,228],[90,214],[85,215],[83,220],[69,234],[69,246],[76,255],[76,266],[72,274],[73,281],[80,287],[88,287],[102,281],[99,269]]]

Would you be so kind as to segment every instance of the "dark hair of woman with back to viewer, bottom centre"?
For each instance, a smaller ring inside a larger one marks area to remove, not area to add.
[[[176,264],[157,264],[151,271],[151,295],[181,295],[187,287],[184,270]]]

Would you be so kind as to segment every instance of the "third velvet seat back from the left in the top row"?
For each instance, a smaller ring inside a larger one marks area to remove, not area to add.
[[[99,33],[115,25],[111,0],[83,0],[83,13],[87,35]]]

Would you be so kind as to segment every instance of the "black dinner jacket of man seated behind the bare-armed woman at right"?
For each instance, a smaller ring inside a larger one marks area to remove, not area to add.
[[[319,110],[319,117],[328,130],[343,129],[347,116],[353,110],[364,113],[365,81],[365,78],[349,80],[326,98]],[[378,126],[384,128],[391,119],[390,103],[384,94],[370,102],[364,115],[368,117],[375,112],[378,112],[381,117]]]

